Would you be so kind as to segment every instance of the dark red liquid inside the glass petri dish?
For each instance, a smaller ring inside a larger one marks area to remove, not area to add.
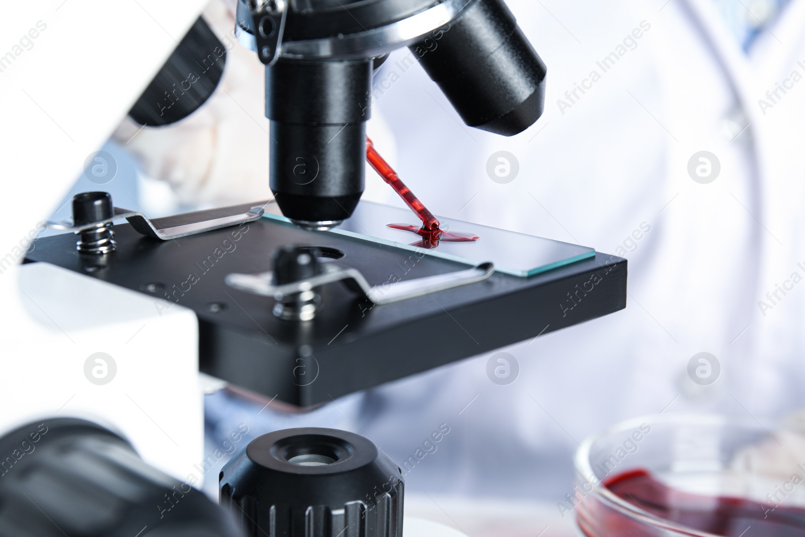
[[[805,537],[805,509],[682,492],[645,470],[621,473],[605,481],[605,486],[625,502],[656,517],[655,522],[670,521],[725,537]],[[615,510],[599,510],[600,507],[593,507],[592,521],[584,520],[586,515],[579,516],[580,526],[590,537],[668,535],[658,527],[646,527]]]

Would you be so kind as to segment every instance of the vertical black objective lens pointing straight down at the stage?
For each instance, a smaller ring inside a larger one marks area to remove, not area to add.
[[[348,218],[364,188],[372,60],[266,67],[270,187],[294,221]]]

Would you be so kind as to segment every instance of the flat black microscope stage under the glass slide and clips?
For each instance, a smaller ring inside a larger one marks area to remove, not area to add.
[[[157,221],[163,226],[186,224],[240,213],[252,205]],[[318,291],[322,308],[314,320],[293,322],[274,316],[273,299],[227,287],[225,276],[270,271],[271,252],[287,244],[340,250],[345,255],[337,262],[357,268],[371,285],[467,266],[430,256],[412,261],[410,251],[267,219],[175,242],[143,237],[127,224],[114,230],[118,250],[104,256],[109,259],[103,265],[76,254],[70,233],[40,238],[27,259],[142,292],[155,299],[155,307],[191,308],[199,318],[202,371],[300,407],[487,353],[626,305],[626,260],[597,254],[530,278],[493,274],[481,283],[374,308],[334,283]],[[188,285],[191,273],[199,279]],[[593,275],[601,279],[594,291],[580,291]],[[573,305],[569,295],[578,304],[568,310],[568,304]]]

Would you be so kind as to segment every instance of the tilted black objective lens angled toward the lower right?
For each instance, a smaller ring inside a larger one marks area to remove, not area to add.
[[[410,48],[468,126],[513,136],[543,114],[547,69],[502,0],[478,0]]]

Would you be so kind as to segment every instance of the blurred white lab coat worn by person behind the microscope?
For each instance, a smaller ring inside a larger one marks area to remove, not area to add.
[[[576,444],[621,419],[802,407],[805,80],[786,79],[805,76],[805,2],[748,57],[709,0],[508,4],[548,66],[543,118],[513,138],[472,130],[421,69],[389,61],[400,76],[374,110],[394,131],[394,164],[435,213],[628,258],[627,308],[506,349],[521,368],[510,386],[487,378],[486,353],[371,390],[361,428],[405,460],[449,424],[410,489],[559,500]],[[593,70],[600,80],[584,81]],[[766,92],[784,82],[774,104]],[[519,161],[510,184],[486,173],[500,150]],[[710,184],[688,174],[698,151],[720,161]],[[766,292],[784,284],[773,304]],[[700,352],[720,361],[711,386],[687,376]]]

